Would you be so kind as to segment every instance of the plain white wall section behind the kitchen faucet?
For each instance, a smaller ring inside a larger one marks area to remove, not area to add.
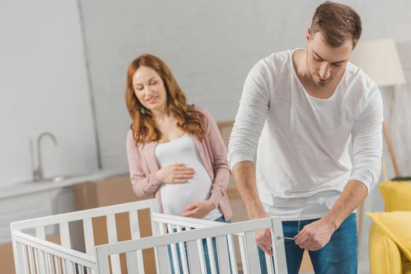
[[[0,2],[0,184],[32,179],[29,138],[45,176],[97,169],[90,95],[75,1]],[[35,151],[36,152],[36,151]]]

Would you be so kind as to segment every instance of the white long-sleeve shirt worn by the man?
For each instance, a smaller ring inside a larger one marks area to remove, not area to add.
[[[293,52],[273,53],[251,69],[228,153],[233,168],[254,162],[258,147],[260,199],[284,221],[321,218],[350,179],[370,191],[382,156],[383,106],[375,82],[348,63],[332,97],[312,97],[297,78]]]

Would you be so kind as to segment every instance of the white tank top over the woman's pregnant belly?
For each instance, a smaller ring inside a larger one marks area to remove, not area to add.
[[[172,140],[158,144],[155,147],[155,157],[160,167],[170,164],[183,163],[184,166],[195,170],[192,179],[188,179],[184,184],[162,184],[160,188],[160,199],[165,214],[178,215],[186,212],[186,206],[190,203],[204,201],[210,197],[211,178],[201,161],[195,143],[188,134]],[[210,211],[203,219],[214,221],[223,216],[217,206]]]

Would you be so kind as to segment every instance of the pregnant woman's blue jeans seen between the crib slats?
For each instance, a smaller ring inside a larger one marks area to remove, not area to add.
[[[215,221],[216,222],[221,222],[221,223],[231,223],[230,220],[225,221],[223,216],[221,216],[219,219],[216,219]],[[177,230],[174,229],[174,232],[177,232]],[[177,245],[175,245],[175,247],[177,249],[179,273],[183,273],[183,264],[182,264],[182,258],[181,258],[180,253],[179,253],[179,245],[177,244]],[[186,242],[184,242],[184,247],[186,249],[186,262],[188,262]],[[214,249],[214,262],[216,262],[217,273],[219,273],[219,261],[218,261],[218,257],[217,257],[216,238],[212,238],[212,247]],[[174,272],[174,264],[173,264],[173,256],[172,256],[172,253],[171,253],[171,245],[168,245],[167,249],[169,249],[169,260],[170,260],[170,266],[171,266],[171,274],[179,274],[179,273]],[[207,247],[207,240],[206,239],[203,239],[203,251],[204,251],[204,257],[205,257],[205,260],[206,260],[206,270],[207,270],[207,273],[210,274],[211,273],[211,267],[210,267],[210,260],[208,258],[208,247]]]

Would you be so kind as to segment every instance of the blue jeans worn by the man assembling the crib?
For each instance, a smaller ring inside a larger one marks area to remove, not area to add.
[[[282,222],[285,237],[294,238],[305,225],[319,219]],[[304,249],[293,240],[284,240],[288,274],[297,274],[303,260]],[[357,218],[353,213],[332,234],[331,239],[320,250],[308,251],[316,274],[356,274],[358,271]],[[267,273],[264,251],[258,247],[261,273]]]

